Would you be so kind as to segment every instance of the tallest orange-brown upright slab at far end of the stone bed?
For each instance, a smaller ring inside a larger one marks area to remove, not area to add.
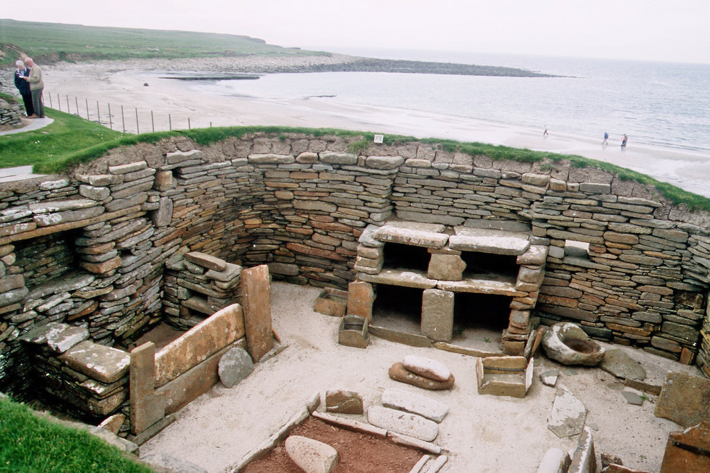
[[[241,272],[240,284],[241,304],[244,307],[246,351],[256,363],[273,348],[268,266],[244,269]]]

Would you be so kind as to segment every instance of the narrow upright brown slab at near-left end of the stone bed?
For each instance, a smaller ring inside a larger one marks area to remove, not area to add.
[[[137,435],[165,416],[163,396],[155,394],[155,344],[144,343],[131,351],[131,432]]]

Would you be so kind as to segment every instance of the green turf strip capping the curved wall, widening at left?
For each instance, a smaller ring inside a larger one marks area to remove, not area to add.
[[[131,135],[129,133],[111,131],[98,123],[84,120],[84,118],[70,113],[48,109],[47,114],[55,119],[55,122],[48,127],[26,133],[0,136],[0,167],[34,165],[35,172],[43,174],[58,173],[102,157],[114,148],[131,146],[136,143],[157,143],[159,140],[170,138],[171,136],[187,136],[202,146],[209,146],[226,138],[240,138],[246,134],[257,132],[270,133],[272,135],[302,133],[312,136],[350,136],[359,138],[350,145],[350,151],[356,153],[366,152],[373,143],[374,138],[374,133],[362,133],[359,131],[280,126],[197,128]],[[429,143],[443,150],[464,152],[471,156],[486,155],[493,160],[544,162],[542,165],[543,170],[547,167],[552,169],[556,162],[567,160],[575,167],[595,167],[618,174],[623,180],[655,186],[663,196],[670,199],[675,205],[685,204],[692,210],[710,211],[710,199],[704,196],[692,194],[640,172],[578,155],[559,155],[552,152],[486,145],[484,143],[461,143],[437,138],[420,140],[399,135],[386,135],[385,137],[386,145],[412,141]]]

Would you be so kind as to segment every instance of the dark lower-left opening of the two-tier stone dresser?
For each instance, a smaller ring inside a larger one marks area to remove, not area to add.
[[[420,333],[422,289],[376,284],[372,325],[405,333]]]

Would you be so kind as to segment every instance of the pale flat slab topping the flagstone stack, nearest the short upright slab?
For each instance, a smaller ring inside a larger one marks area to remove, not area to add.
[[[112,383],[129,371],[131,355],[123,350],[84,340],[59,359],[68,367],[103,383]]]

